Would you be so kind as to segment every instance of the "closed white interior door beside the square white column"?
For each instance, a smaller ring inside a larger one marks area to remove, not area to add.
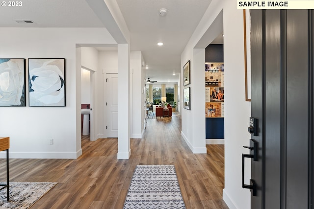
[[[118,138],[118,73],[106,74],[107,138]]]

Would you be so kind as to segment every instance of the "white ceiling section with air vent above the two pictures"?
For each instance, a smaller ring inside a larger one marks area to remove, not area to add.
[[[22,0],[20,7],[0,6],[0,27],[103,27],[85,0]],[[20,24],[14,20],[31,20]]]

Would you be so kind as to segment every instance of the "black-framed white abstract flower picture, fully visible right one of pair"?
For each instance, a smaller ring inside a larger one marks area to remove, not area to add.
[[[31,107],[65,106],[65,59],[28,59],[28,95]]]

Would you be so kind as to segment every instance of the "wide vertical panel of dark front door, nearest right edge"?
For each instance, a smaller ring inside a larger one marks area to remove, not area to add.
[[[287,11],[287,209],[308,208],[308,11]]]

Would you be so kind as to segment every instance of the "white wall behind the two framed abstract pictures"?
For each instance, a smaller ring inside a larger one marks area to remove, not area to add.
[[[10,158],[76,159],[81,154],[81,54],[76,45],[116,42],[105,28],[1,28],[1,31],[5,33],[0,33],[3,40],[0,57],[66,59],[66,107],[0,108],[0,133],[10,137]],[[28,77],[26,90],[27,82]],[[49,145],[50,139],[54,140],[53,145]]]

